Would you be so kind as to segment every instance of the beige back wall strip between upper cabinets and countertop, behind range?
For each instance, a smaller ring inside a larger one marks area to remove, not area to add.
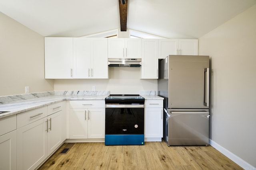
[[[140,67],[110,67],[109,79],[54,80],[54,90],[110,90],[110,94],[139,94],[140,90],[155,90],[156,79],[140,79]]]

